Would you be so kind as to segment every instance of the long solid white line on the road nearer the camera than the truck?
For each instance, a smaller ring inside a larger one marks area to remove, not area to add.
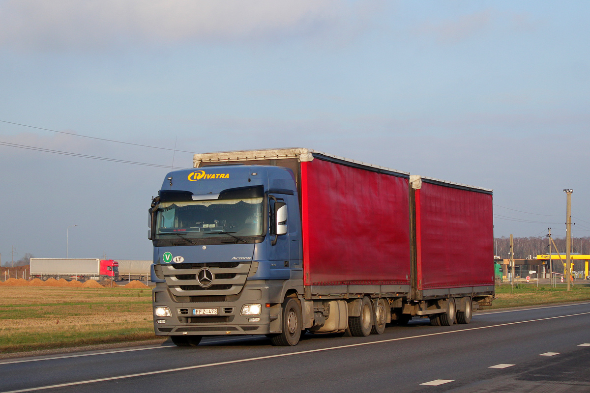
[[[395,341],[408,340],[408,339],[412,339],[412,338],[440,336],[440,335],[444,335],[444,334],[453,334],[453,333],[461,333],[461,332],[468,332],[468,331],[476,331],[476,330],[481,330],[481,329],[500,328],[501,326],[519,325],[520,323],[529,323],[529,322],[549,321],[550,319],[569,318],[570,316],[581,316],[581,315],[588,315],[588,314],[590,314],[590,312],[581,312],[581,313],[570,314],[570,315],[550,316],[548,318],[531,319],[530,321],[507,322],[507,323],[500,323],[498,325],[478,326],[477,328],[468,328],[468,329],[460,329],[460,330],[453,330],[453,331],[446,331],[446,332],[437,332],[437,333],[427,333],[427,334],[422,334],[422,335],[417,335],[417,336],[389,338],[389,339],[379,340],[379,341],[359,342],[358,344],[330,346],[328,348],[309,349],[307,351],[289,352],[287,354],[258,356],[257,358],[245,358],[245,359],[237,359],[237,360],[226,361],[226,362],[200,364],[200,365],[196,365],[196,366],[186,366],[186,367],[179,367],[179,368],[169,368],[169,369],[163,369],[163,370],[159,370],[159,371],[149,371],[149,372],[140,372],[140,373],[137,373],[137,374],[119,375],[118,377],[106,377],[106,378],[89,379],[87,381],[68,382],[68,383],[65,383],[65,384],[47,385],[47,386],[36,387],[36,388],[27,388],[27,389],[18,389],[18,390],[4,391],[4,392],[0,392],[0,393],[32,392],[32,391],[38,391],[38,390],[43,390],[43,389],[63,388],[63,387],[68,387],[68,386],[92,384],[94,382],[116,381],[117,379],[144,377],[146,375],[165,374],[166,372],[186,371],[186,370],[193,370],[193,369],[205,368],[205,367],[212,367],[212,366],[220,366],[220,365],[226,365],[226,364],[238,364],[238,363],[251,362],[251,361],[257,361],[257,360],[283,358],[285,356],[313,354],[315,352],[332,351],[333,349],[355,348],[356,346],[372,345],[372,344],[383,344],[385,342],[395,342]]]

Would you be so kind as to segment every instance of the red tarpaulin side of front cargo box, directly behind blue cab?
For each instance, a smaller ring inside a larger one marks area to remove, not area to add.
[[[408,176],[301,162],[304,285],[410,279]]]

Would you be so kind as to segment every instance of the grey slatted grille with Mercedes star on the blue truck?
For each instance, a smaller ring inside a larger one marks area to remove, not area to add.
[[[172,295],[183,297],[237,295],[246,282],[250,266],[249,260],[160,265]],[[198,274],[204,267],[210,271],[207,277],[213,279],[199,282]]]

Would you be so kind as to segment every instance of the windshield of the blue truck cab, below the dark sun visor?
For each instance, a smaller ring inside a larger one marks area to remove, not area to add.
[[[251,187],[224,191],[217,200],[160,202],[156,211],[156,239],[178,239],[177,235],[192,239],[228,237],[227,233],[260,236],[262,193],[261,187]]]

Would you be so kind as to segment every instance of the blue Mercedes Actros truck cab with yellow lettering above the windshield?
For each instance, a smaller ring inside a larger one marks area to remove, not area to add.
[[[204,335],[299,341],[303,256],[292,170],[233,164],[172,171],[149,213],[156,335],[179,346]]]

